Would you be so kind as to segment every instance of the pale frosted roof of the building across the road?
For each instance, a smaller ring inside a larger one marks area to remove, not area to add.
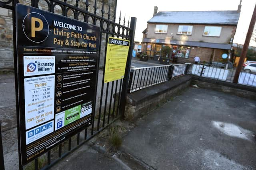
[[[177,11],[158,12],[148,23],[197,23],[237,25],[237,11]]]

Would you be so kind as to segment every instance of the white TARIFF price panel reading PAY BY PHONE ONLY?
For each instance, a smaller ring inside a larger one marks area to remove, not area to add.
[[[26,129],[54,119],[55,76],[24,79]]]

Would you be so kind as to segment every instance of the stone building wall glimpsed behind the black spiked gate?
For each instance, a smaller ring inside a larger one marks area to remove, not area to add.
[[[19,0],[21,4],[30,5],[31,0]],[[85,0],[80,0],[78,2],[78,7],[81,9],[86,9]],[[94,13],[94,0],[88,0],[90,6],[88,8],[89,12]],[[101,16],[103,0],[97,0],[97,15]],[[68,4],[75,5],[76,0],[67,0]],[[104,0],[104,18],[108,18],[108,8],[110,5],[110,20],[114,20],[114,11],[116,8],[116,0]],[[44,0],[39,1],[39,8],[42,10],[48,10],[48,5]],[[62,14],[60,6],[55,6],[54,13]],[[68,11],[68,17],[74,18],[74,13],[72,10]],[[118,17],[117,17],[118,18]],[[82,15],[79,16],[79,20],[83,21],[84,18]],[[118,20],[118,19],[117,19]],[[89,23],[92,23],[92,20],[88,20]],[[97,23],[100,25],[100,23]],[[13,70],[13,35],[12,35],[12,10],[0,8],[0,70]],[[104,54],[105,54],[105,45],[106,45],[106,34],[102,34],[102,46],[100,49],[100,67],[104,65]]]

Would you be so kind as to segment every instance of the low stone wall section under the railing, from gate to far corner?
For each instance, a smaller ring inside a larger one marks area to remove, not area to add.
[[[169,82],[151,86],[127,95],[124,117],[135,120],[149,113],[166,100],[172,98],[179,91],[190,86],[191,77],[182,76]]]

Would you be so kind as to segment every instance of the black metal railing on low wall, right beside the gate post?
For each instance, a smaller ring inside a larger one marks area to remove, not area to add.
[[[187,74],[190,63],[132,68],[128,91],[144,89]]]

